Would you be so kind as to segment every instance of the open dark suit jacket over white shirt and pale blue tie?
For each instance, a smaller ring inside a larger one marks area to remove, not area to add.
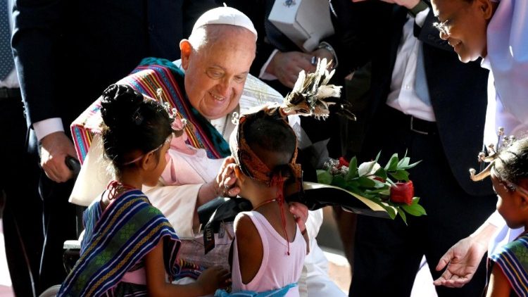
[[[372,10],[375,14],[369,15],[365,9],[351,9],[351,18],[356,18],[358,23],[379,22],[376,27],[361,27],[376,40],[360,53],[363,56],[358,56],[372,58],[372,98],[367,115],[370,117],[368,120],[372,120],[389,94],[407,10],[378,1],[360,5],[376,7]],[[358,14],[358,11],[361,13]],[[467,194],[492,194],[488,182],[472,182],[468,173],[470,167],[478,166],[477,153],[482,148],[489,73],[478,62],[465,64],[458,61],[451,46],[439,38],[439,32],[432,26],[435,21],[432,11],[429,11],[425,24],[421,28],[415,26],[415,36],[423,43],[429,95],[444,152],[453,176]]]

